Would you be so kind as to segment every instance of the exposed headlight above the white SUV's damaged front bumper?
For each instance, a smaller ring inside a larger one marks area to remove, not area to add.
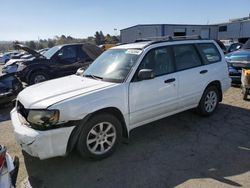
[[[27,121],[40,128],[49,128],[59,120],[59,110],[29,110]]]

